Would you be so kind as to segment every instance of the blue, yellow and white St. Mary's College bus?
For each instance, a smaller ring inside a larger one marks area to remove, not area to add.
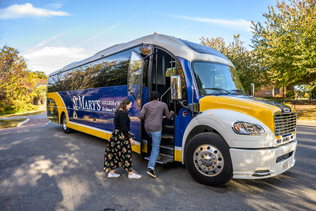
[[[244,91],[232,62],[203,45],[162,34],[108,47],[49,74],[47,118],[109,140],[113,111],[124,97],[134,152],[149,159],[151,140],[138,114],[151,91],[174,110],[163,119],[161,159],[185,164],[198,182],[278,175],[295,164],[296,112]]]

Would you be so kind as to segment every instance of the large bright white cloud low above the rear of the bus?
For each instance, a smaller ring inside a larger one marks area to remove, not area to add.
[[[30,69],[49,74],[71,62],[88,58],[90,55],[84,51],[84,48],[44,47],[23,56],[29,60]]]

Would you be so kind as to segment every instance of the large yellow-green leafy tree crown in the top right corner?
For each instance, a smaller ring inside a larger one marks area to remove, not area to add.
[[[316,0],[268,6],[262,25],[252,21],[252,44],[270,84],[310,83],[316,87]]]

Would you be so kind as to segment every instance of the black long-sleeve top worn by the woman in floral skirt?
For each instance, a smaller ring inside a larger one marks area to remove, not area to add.
[[[123,135],[126,139],[130,139],[130,117],[123,110],[118,110],[114,115],[114,129],[120,129],[123,132]]]

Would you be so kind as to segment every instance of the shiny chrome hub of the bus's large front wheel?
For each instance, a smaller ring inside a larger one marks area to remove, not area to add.
[[[224,166],[222,153],[212,145],[201,145],[193,154],[193,162],[197,170],[208,177],[218,175]]]

